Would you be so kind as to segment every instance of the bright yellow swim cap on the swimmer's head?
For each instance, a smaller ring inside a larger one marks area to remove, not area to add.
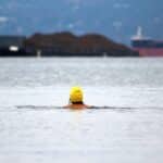
[[[72,87],[70,92],[71,102],[83,102],[83,89],[80,87]]]

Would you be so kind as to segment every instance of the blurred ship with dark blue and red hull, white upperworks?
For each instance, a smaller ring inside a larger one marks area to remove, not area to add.
[[[142,36],[141,27],[131,38],[131,47],[139,52],[140,57],[163,57],[163,40],[153,40]]]

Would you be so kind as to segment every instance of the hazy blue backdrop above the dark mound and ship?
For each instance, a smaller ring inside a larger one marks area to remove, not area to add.
[[[0,35],[99,33],[129,45],[143,34],[163,39],[162,0],[0,0]]]

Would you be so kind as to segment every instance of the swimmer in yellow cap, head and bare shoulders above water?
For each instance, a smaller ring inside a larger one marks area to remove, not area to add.
[[[72,87],[70,91],[70,103],[64,106],[65,109],[91,109],[91,105],[87,105],[84,103],[84,93],[80,87]]]

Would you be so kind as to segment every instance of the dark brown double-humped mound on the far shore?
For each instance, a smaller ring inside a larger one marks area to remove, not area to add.
[[[26,49],[43,55],[89,55],[89,57],[137,57],[126,46],[116,43],[99,34],[76,36],[68,32],[35,34],[25,40]]]

